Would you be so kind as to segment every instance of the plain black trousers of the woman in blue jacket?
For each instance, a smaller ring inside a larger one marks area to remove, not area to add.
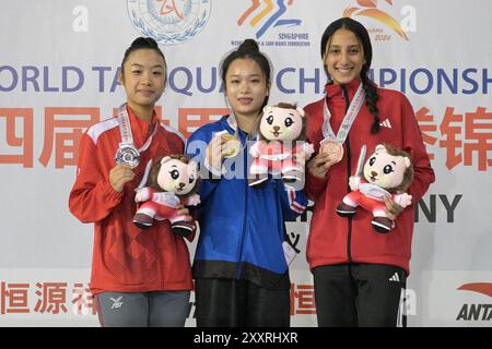
[[[270,290],[247,280],[196,279],[198,327],[289,327],[290,290]]]

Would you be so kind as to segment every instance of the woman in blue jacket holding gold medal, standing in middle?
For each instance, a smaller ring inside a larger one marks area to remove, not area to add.
[[[197,325],[289,326],[291,282],[284,251],[292,248],[284,220],[302,214],[307,201],[303,190],[288,188],[280,179],[270,177],[261,189],[248,185],[248,143],[256,140],[268,103],[269,60],[256,41],[246,39],[226,56],[221,70],[232,113],[201,127],[187,143],[188,154],[215,176],[203,179],[199,189]],[[237,152],[229,148],[232,140]],[[235,176],[225,169],[226,157],[237,160]]]

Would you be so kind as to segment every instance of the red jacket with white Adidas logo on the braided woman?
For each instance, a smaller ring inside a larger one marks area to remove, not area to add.
[[[350,101],[359,83],[356,80],[345,85]],[[337,134],[345,115],[347,103],[340,85],[328,84],[326,93],[331,112],[330,124]],[[320,265],[374,263],[396,265],[409,274],[414,205],[435,177],[408,99],[397,91],[377,88],[377,94],[382,124],[379,132],[371,133],[374,117],[364,103],[343,144],[342,160],[328,170],[324,180],[307,176],[306,192],[315,202],[307,240],[307,262],[311,269]],[[305,107],[309,115],[307,140],[313,143],[316,153],[319,151],[319,141],[324,137],[324,104],[325,98]],[[362,207],[352,218],[339,217],[336,213],[338,203],[350,191],[349,177],[355,172],[362,145],[367,145],[368,156],[379,143],[390,143],[407,151],[414,164],[414,179],[408,191],[413,196],[412,205],[398,216],[396,227],[389,233],[375,232],[371,227],[372,213]]]

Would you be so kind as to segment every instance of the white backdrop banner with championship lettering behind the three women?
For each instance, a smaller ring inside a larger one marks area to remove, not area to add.
[[[125,101],[117,76],[136,37],[164,51],[157,115],[189,136],[229,112],[220,61],[245,38],[273,64],[270,103],[319,99],[320,38],[343,15],[371,34],[374,82],[410,99],[436,173],[417,203],[408,326],[491,326],[492,219],[477,202],[492,197],[492,45],[482,38],[491,13],[483,0],[2,1],[0,326],[98,326],[93,225],[70,214],[68,196],[81,135]],[[312,205],[288,225],[301,251],[291,264],[293,326],[317,326],[305,257]]]

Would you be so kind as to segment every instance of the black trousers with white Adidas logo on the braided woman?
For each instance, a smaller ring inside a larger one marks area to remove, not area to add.
[[[407,275],[397,266],[341,264],[314,270],[319,327],[405,326],[401,317]]]

